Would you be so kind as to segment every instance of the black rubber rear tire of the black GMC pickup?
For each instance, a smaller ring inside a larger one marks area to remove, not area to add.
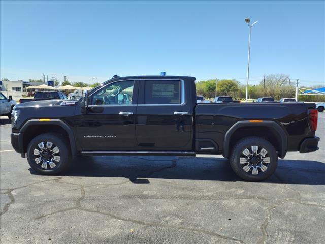
[[[255,153],[252,146],[257,146],[257,150],[254,147]],[[246,148],[249,150],[249,154],[245,150]],[[265,155],[263,154],[265,151],[262,151],[263,148],[267,152]],[[264,156],[261,157],[261,155]],[[245,160],[247,161],[246,163],[244,163]],[[278,155],[269,141],[261,137],[245,137],[236,143],[229,161],[232,169],[240,178],[248,181],[261,181],[269,178],[276,170]]]

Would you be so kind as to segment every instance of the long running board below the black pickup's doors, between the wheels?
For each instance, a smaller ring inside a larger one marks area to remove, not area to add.
[[[194,151],[81,151],[81,155],[111,156],[195,156]]]

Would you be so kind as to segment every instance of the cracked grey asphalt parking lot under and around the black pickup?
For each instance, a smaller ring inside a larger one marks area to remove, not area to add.
[[[320,149],[256,183],[203,155],[76,158],[36,175],[0,122],[1,243],[324,243],[325,113]]]

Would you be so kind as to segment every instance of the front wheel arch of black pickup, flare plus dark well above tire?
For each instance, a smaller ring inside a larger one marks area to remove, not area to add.
[[[37,131],[38,133],[32,136],[32,138],[34,138],[37,135],[43,134],[43,133],[48,133],[48,132],[54,132],[54,133],[58,133],[58,132],[62,132],[64,133],[69,140],[69,144],[70,144],[70,149],[71,149],[71,154],[72,155],[76,155],[76,143],[74,140],[74,134],[72,129],[66,124],[64,123],[64,121],[60,120],[60,119],[51,119],[50,121],[39,121],[39,119],[30,119],[28,120],[20,129],[20,133],[23,133],[24,135],[26,135],[26,137],[24,136],[24,143],[23,143],[23,148],[24,151],[26,151],[26,148],[28,146],[28,143],[30,142],[29,136],[27,136],[29,131],[32,131],[31,128],[35,128],[37,127]],[[55,131],[56,129],[56,131]],[[29,142],[28,142],[29,141]]]

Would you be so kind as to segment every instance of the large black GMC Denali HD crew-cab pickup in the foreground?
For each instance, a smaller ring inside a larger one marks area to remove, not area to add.
[[[268,178],[287,151],[318,149],[315,104],[197,104],[194,81],[114,76],[78,101],[19,104],[11,143],[47,175],[66,169],[76,155],[222,154],[251,181]]]

